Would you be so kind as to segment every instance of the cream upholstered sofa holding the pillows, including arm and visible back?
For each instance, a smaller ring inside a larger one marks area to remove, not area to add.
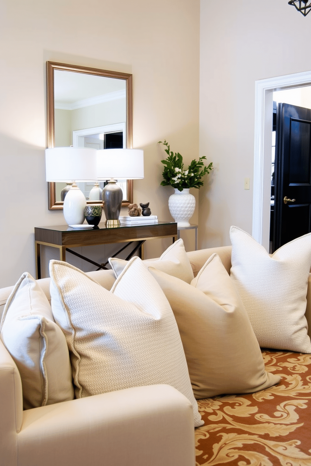
[[[213,253],[220,255],[229,273],[231,247],[219,247],[187,253],[194,275]],[[115,281],[112,271],[89,275],[107,289]],[[50,298],[49,279],[38,282]],[[311,315],[310,282],[309,277],[306,315]],[[0,289],[0,314],[12,289]],[[1,466],[195,464],[192,406],[168,385],[135,387],[23,411],[21,377],[0,341],[0,403]]]

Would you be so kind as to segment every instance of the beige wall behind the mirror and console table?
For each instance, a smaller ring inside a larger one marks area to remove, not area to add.
[[[64,223],[62,212],[48,211],[45,182],[48,60],[133,74],[133,147],[145,151],[145,179],[135,181],[134,201],[150,201],[159,219],[171,219],[167,201],[173,189],[159,186],[165,154],[157,142],[166,138],[186,161],[198,156],[200,5],[199,0],[2,0],[0,10],[4,287],[24,271],[35,274],[34,227]],[[169,244],[150,241],[147,254],[159,255]]]

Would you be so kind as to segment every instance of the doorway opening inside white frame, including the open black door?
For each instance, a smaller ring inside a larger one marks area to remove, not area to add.
[[[270,253],[310,232],[310,109],[311,86],[273,92]]]

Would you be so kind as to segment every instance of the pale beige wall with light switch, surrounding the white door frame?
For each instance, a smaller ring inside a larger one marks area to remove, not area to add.
[[[215,169],[200,189],[199,247],[230,244],[231,225],[252,233],[255,81],[310,70],[310,30],[311,14],[284,0],[201,0],[200,155]]]

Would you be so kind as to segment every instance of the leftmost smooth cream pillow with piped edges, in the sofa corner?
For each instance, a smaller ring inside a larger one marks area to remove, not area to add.
[[[21,375],[24,409],[73,399],[66,339],[30,274],[21,275],[8,297],[0,330]]]

